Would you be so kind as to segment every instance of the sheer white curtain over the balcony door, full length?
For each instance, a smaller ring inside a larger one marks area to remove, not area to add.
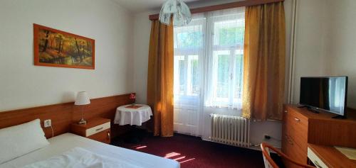
[[[174,130],[196,136],[201,118],[205,28],[204,14],[193,15],[188,26],[174,28]]]

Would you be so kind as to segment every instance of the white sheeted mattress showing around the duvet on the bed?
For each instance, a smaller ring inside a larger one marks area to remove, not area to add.
[[[127,150],[122,147],[115,147],[107,145],[102,142],[83,138],[71,133],[65,133],[58,135],[54,138],[48,139],[51,143],[47,147],[43,147],[40,150],[28,153],[16,159],[12,159],[9,162],[0,164],[0,167],[23,167],[26,164],[38,162],[43,159],[48,159],[54,155],[66,152],[74,147],[83,147],[85,150],[97,153],[98,155],[104,155],[106,157],[120,158],[126,162],[130,162],[140,167],[147,168],[179,168],[179,163],[172,159],[166,159],[163,157],[157,157],[155,155],[149,155],[134,150]]]

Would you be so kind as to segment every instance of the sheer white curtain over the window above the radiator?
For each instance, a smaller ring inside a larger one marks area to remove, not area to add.
[[[208,14],[205,106],[241,109],[244,8]]]

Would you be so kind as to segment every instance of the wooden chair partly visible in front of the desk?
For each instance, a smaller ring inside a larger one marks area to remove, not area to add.
[[[293,159],[291,159],[287,155],[283,154],[281,151],[277,150],[275,147],[273,147],[271,145],[268,145],[265,142],[261,143],[261,150],[262,150],[262,153],[263,153],[263,161],[265,163],[265,167],[266,168],[279,168],[278,165],[276,164],[276,162],[274,162],[273,159],[271,158],[270,150],[272,150],[273,152],[276,152],[283,159],[286,159],[286,160],[288,160],[288,162],[291,162],[292,164],[298,165],[299,167],[315,168],[315,167],[309,166],[307,164],[300,164],[298,162],[295,162]]]

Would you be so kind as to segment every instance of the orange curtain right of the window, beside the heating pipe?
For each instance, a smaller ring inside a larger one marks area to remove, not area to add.
[[[248,6],[245,13],[243,116],[281,120],[286,64],[283,2]]]

